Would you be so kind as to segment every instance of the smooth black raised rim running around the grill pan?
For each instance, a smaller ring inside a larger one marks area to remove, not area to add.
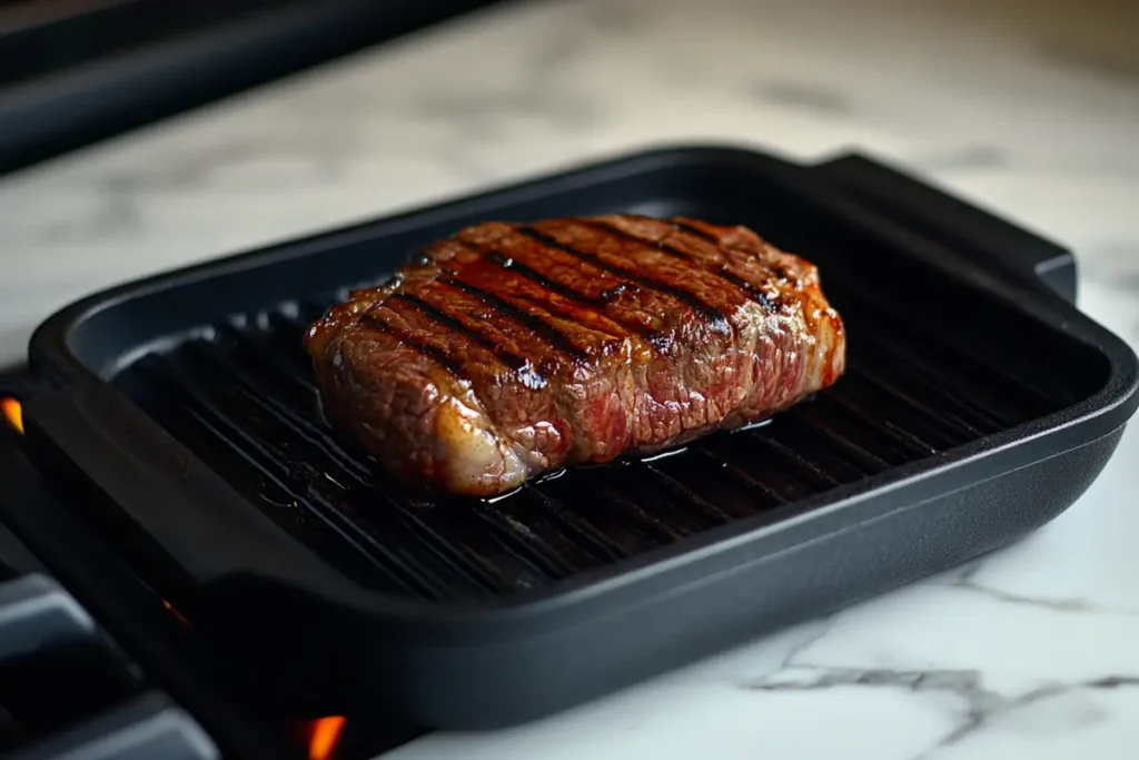
[[[368,221],[350,228],[334,230],[304,238],[300,242],[288,242],[281,245],[259,248],[239,256],[227,256],[213,261],[204,262],[195,267],[165,272],[144,280],[128,283],[125,285],[97,293],[71,307],[67,307],[47,321],[35,332],[31,343],[31,357],[34,367],[42,376],[54,378],[56,383],[64,385],[72,393],[77,394],[114,394],[120,397],[120,401],[130,406],[137,415],[141,415],[146,422],[161,430],[158,423],[154,422],[141,409],[134,407],[133,402],[125,399],[117,390],[106,385],[106,379],[88,367],[73,350],[73,338],[75,332],[87,324],[90,318],[106,309],[125,302],[126,300],[139,297],[147,293],[163,291],[166,288],[186,287],[204,280],[213,280],[219,276],[259,268],[270,262],[280,262],[286,259],[303,259],[314,255],[320,250],[331,245],[343,245],[344,240],[351,237],[371,237],[378,230],[384,229],[390,234],[391,228],[428,226],[433,219],[454,215],[456,210],[464,210],[470,213],[472,207],[502,207],[509,205],[513,196],[533,196],[535,193],[557,195],[566,191],[572,186],[591,186],[612,181],[616,177],[632,175],[652,171],[659,165],[674,166],[678,161],[688,163],[722,162],[734,163],[759,162],[764,171],[784,171],[788,174],[788,181],[802,182],[801,179],[792,179],[794,172],[802,172],[800,167],[781,164],[776,158],[756,154],[746,148],[737,147],[666,147],[649,152],[621,156],[601,163],[591,164],[568,174],[555,173],[543,178],[511,185],[509,187],[492,190],[473,198],[458,198],[449,203],[433,205],[427,209],[413,210],[396,216]],[[796,175],[797,177],[797,175]],[[825,189],[811,188],[812,193],[828,195]],[[839,206],[846,204],[837,195],[828,198]],[[853,204],[849,212],[862,219],[872,219],[874,223],[880,228],[891,228],[891,222],[884,218],[875,218],[875,214],[866,209]],[[896,236],[901,230],[894,228]],[[904,232],[903,232],[904,235]],[[912,236],[911,236],[912,237]],[[923,243],[928,247],[928,243]],[[808,517],[818,518],[822,522],[831,518],[836,514],[846,515],[859,505],[874,501],[875,497],[884,497],[887,493],[904,492],[917,484],[923,488],[931,488],[937,481],[943,481],[949,475],[957,474],[965,485],[974,484],[975,476],[967,473],[976,465],[988,463],[995,466],[995,475],[1009,472],[1008,463],[1015,458],[1022,458],[1022,465],[1039,461],[1046,456],[1057,456],[1063,453],[1065,447],[1055,441],[1059,433],[1064,431],[1076,431],[1090,433],[1081,438],[1081,443],[1067,446],[1074,449],[1079,446],[1091,443],[1100,435],[1109,434],[1112,430],[1122,425],[1126,417],[1133,411],[1137,403],[1136,387],[1139,383],[1139,371],[1134,354],[1122,340],[1117,338],[1093,320],[1079,312],[1074,307],[1063,303],[1058,299],[1041,294],[1026,284],[1009,281],[988,272],[977,272],[969,268],[961,269],[958,265],[953,271],[952,264],[942,268],[947,276],[962,280],[962,271],[967,273],[964,284],[974,289],[983,289],[989,295],[1000,297],[1006,305],[1016,309],[1031,317],[1044,327],[1059,330],[1071,338],[1093,349],[1103,356],[1109,365],[1108,381],[1098,392],[1089,398],[1072,404],[1068,408],[1052,412],[1035,420],[1017,425],[999,433],[983,436],[976,441],[957,447],[950,451],[939,455],[937,461],[929,458],[909,463],[900,467],[892,467],[888,471],[868,477],[849,487],[842,487],[834,491],[828,491],[806,500],[787,505],[781,518],[769,522],[764,516],[764,524],[756,525],[759,518],[747,518],[730,523],[720,528],[711,529],[700,534],[693,536],[677,541],[673,545],[658,547],[628,559],[615,562],[611,565],[599,567],[576,574],[572,578],[551,582],[549,586],[531,593],[521,593],[508,597],[491,599],[480,599],[467,602],[461,605],[440,605],[437,603],[405,599],[379,591],[372,591],[360,587],[346,577],[337,589],[321,589],[320,594],[328,594],[337,603],[346,604],[362,612],[378,615],[393,615],[401,619],[417,619],[424,623],[464,623],[481,622],[494,629],[501,623],[517,623],[528,619],[549,619],[549,624],[558,624],[557,619],[567,611],[575,611],[588,602],[598,602],[605,597],[629,593],[646,577],[671,575],[689,566],[693,562],[700,562],[716,553],[730,551],[741,545],[752,545],[773,540],[779,534],[801,525]],[[978,278],[980,277],[980,281]],[[1117,424],[1116,424],[1117,423]],[[163,433],[165,431],[162,431]],[[1046,447],[1044,444],[1048,443]],[[181,447],[181,444],[178,444]],[[200,460],[188,448],[182,447],[185,455],[202,464]],[[1030,451],[1031,457],[1024,459]],[[1046,455],[1046,451],[1051,453]],[[1007,460],[1007,461],[1006,461]],[[1006,465],[1000,464],[1006,461]],[[202,465],[205,466],[204,464]],[[229,487],[227,487],[229,488]],[[939,495],[947,492],[939,490]],[[245,501],[244,497],[235,496]],[[912,506],[917,506],[913,504]],[[249,505],[251,509],[256,509]],[[863,506],[867,509],[868,506]],[[879,515],[865,518],[876,518]],[[286,541],[294,539],[284,536]],[[303,547],[302,547],[303,548]],[[313,553],[309,553],[313,554]],[[313,555],[320,564],[323,559]],[[469,628],[467,629],[469,632]]]

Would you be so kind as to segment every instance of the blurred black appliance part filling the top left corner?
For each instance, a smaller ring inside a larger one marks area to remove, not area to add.
[[[0,171],[484,5],[2,0]]]

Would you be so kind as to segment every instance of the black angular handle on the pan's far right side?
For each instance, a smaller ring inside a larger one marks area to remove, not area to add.
[[[857,203],[951,243],[981,267],[1075,303],[1075,258],[1055,243],[858,153],[818,164],[811,173]]]

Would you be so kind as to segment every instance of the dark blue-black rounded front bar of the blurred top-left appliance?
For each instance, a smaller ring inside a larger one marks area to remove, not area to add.
[[[281,3],[0,87],[0,175],[502,1]]]

